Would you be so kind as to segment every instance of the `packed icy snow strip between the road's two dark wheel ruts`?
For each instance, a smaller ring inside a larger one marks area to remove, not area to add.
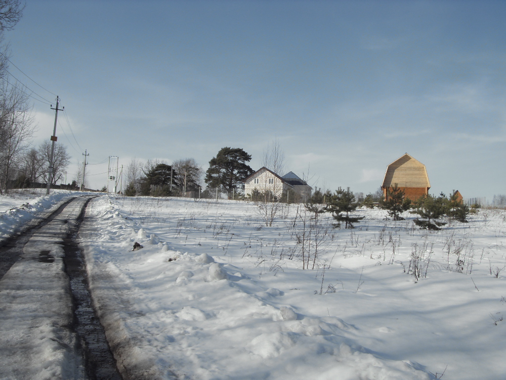
[[[0,280],[2,380],[84,378],[62,243],[85,202],[74,200],[37,230]]]

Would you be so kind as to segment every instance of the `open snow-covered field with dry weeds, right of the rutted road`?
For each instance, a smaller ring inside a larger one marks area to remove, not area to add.
[[[302,270],[297,205],[272,227],[257,210],[177,198],[90,203],[81,247],[123,372],[506,377],[505,211],[428,232],[410,214],[394,222],[384,211],[359,210],[366,218],[356,229],[329,230],[315,269]],[[144,248],[132,251],[134,242]]]

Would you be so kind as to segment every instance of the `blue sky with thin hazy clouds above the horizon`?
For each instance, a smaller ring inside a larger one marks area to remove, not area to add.
[[[62,98],[79,145],[61,118],[69,178],[82,149],[92,164],[194,158],[205,170],[241,147],[258,169],[277,138],[287,169],[309,167],[320,187],[374,192],[409,153],[431,193],[491,199],[506,193],[504,20],[501,1],[28,0],[6,40]],[[34,111],[39,143],[54,113]],[[87,167],[92,187],[104,165]]]

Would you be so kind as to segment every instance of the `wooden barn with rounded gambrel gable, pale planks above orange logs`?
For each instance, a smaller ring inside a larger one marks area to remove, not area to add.
[[[431,183],[425,165],[407,153],[387,167],[383,180],[383,196],[387,198],[387,189],[397,186],[404,191],[404,197],[412,201],[429,194]]]

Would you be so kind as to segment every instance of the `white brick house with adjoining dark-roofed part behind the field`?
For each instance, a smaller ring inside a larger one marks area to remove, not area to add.
[[[244,182],[244,195],[246,196],[251,196],[251,193],[257,189],[259,192],[268,191],[276,197],[280,197],[291,189],[301,196],[302,201],[311,197],[312,187],[293,172],[280,177],[264,166],[242,181]]]

